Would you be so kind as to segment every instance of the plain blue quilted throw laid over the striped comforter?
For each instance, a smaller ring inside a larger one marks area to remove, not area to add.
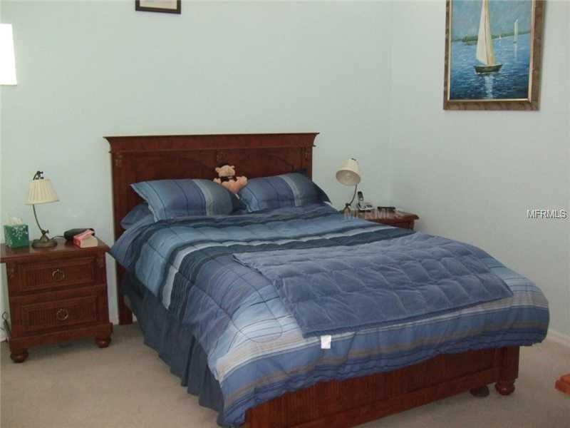
[[[440,236],[386,240],[392,230],[375,231],[378,240],[364,245],[234,258],[271,280],[305,337],[390,325],[512,296],[481,261],[487,253]]]

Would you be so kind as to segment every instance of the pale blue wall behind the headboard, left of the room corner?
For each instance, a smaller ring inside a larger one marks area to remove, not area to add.
[[[108,135],[318,131],[314,177],[333,201],[351,196],[334,173],[353,156],[385,203],[391,4],[185,1],[177,16],[133,0],[2,3],[19,85],[1,88],[0,223],[18,215],[37,238],[23,202],[39,168],[61,200],[38,207],[44,227],[111,243]]]

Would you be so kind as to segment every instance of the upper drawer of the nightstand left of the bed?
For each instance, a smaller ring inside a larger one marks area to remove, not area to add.
[[[19,292],[95,284],[95,258],[67,258],[19,265]]]

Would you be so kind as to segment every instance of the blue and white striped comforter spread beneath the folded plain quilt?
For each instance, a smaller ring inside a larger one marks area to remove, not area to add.
[[[244,246],[279,250],[303,243],[311,248],[323,240],[365,245],[385,230],[398,231],[344,218],[326,205],[308,205],[143,222],[127,230],[111,253],[160,297],[168,312],[191,327],[222,389],[226,424],[242,424],[249,407],[323,380],[395,370],[442,353],[544,339],[546,298],[489,256],[482,263],[508,285],[512,297],[338,333],[331,349],[322,350],[318,337],[303,337],[273,282],[233,256]],[[390,239],[405,247],[422,235],[395,233]]]

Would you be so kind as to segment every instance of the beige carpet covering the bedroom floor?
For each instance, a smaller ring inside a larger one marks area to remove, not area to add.
[[[510,397],[461,394],[363,428],[570,427],[570,396],[554,381],[570,372],[570,349],[546,341],[523,348],[517,390]],[[30,350],[24,364],[1,344],[2,428],[209,428],[216,414],[180,387],[137,325],[117,327],[113,343],[93,341]]]

